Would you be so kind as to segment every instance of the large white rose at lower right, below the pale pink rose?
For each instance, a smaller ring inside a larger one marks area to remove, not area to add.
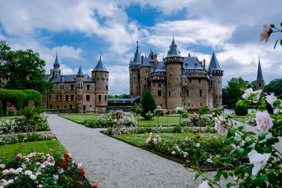
[[[250,164],[254,164],[254,167],[252,168],[252,175],[257,175],[259,170],[264,168],[267,161],[269,161],[271,153],[261,154],[257,153],[255,150],[252,150],[250,153],[247,153],[247,156],[250,160]]]

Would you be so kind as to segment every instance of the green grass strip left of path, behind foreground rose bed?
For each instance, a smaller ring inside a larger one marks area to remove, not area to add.
[[[8,144],[0,146],[0,158],[8,159],[16,156],[16,153],[27,155],[33,151],[39,153],[47,153],[50,149],[58,149],[59,151],[66,151],[59,140],[46,140],[39,142],[26,142],[20,144]]]

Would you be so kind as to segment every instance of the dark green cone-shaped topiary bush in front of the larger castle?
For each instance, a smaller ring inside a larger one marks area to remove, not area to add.
[[[156,101],[154,100],[154,96],[148,90],[145,92],[145,94],[143,94],[141,104],[143,106],[143,111],[141,116],[147,120],[148,118],[146,113],[148,113],[149,111],[153,113],[154,110],[157,108],[157,104]]]

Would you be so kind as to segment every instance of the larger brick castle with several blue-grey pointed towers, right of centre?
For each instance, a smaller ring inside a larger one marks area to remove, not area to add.
[[[195,110],[199,106],[222,107],[223,70],[213,52],[209,66],[190,54],[180,56],[173,40],[163,61],[151,50],[149,56],[140,56],[138,42],[133,61],[129,63],[130,94],[141,96],[149,90],[157,106],[175,110],[183,107]]]

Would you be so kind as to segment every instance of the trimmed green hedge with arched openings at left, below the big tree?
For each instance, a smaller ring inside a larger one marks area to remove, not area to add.
[[[2,102],[2,111],[6,112],[6,104],[10,102],[15,105],[17,111],[28,106],[30,99],[35,101],[35,108],[41,111],[42,96],[39,92],[32,89],[16,90],[16,89],[0,89],[0,101]]]

